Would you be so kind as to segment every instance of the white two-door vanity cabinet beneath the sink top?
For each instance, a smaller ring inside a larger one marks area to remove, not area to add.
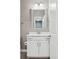
[[[50,39],[48,36],[27,36],[28,57],[49,57]]]

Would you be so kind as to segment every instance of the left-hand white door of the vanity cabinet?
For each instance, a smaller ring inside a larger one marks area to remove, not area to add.
[[[27,56],[28,57],[37,57],[38,56],[38,47],[36,41],[27,41]]]

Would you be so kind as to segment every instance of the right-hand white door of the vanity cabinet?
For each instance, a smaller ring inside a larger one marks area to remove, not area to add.
[[[39,48],[39,57],[49,57],[49,42],[41,41],[41,46]]]

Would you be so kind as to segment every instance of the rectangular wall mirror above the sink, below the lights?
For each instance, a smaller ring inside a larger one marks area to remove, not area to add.
[[[33,29],[44,29],[46,27],[46,10],[31,9],[31,23]]]

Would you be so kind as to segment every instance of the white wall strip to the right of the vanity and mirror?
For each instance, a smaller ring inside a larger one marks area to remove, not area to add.
[[[49,0],[50,59],[58,58],[57,15],[57,0]]]

